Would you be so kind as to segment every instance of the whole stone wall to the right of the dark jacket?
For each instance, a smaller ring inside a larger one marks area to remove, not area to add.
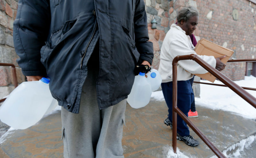
[[[194,6],[200,13],[196,39],[205,38],[232,49],[235,52],[232,57],[236,59],[256,58],[256,5],[248,0],[145,0],[145,4],[149,40],[154,45],[152,66],[155,69],[159,66],[164,36],[184,6]],[[237,20],[232,17],[233,9],[238,10]],[[151,29],[153,18],[157,21],[157,29]],[[241,80],[245,69],[245,62],[228,63],[222,73],[234,81]]]

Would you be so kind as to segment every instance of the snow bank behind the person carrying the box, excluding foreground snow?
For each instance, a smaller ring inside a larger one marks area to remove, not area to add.
[[[212,83],[206,80],[201,80],[200,82]],[[218,80],[215,80],[214,83],[222,84]],[[256,77],[245,76],[244,80],[235,81],[235,83],[241,87],[256,88]],[[246,91],[256,97],[256,91]],[[164,101],[162,91],[153,92],[151,98],[157,101]],[[245,118],[256,119],[256,109],[228,87],[200,84],[200,98],[195,98],[195,102],[196,106],[230,111]]]

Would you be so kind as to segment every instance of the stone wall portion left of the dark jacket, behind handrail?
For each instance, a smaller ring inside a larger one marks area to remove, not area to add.
[[[0,63],[12,63],[16,67],[18,82],[25,81],[16,59],[18,56],[13,46],[13,21],[17,14],[18,0],[0,0]],[[0,99],[13,89],[13,78],[10,67],[0,66]]]

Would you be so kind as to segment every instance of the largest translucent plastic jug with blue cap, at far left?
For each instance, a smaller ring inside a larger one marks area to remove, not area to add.
[[[57,101],[51,95],[49,82],[49,79],[42,78],[16,87],[0,107],[1,121],[15,129],[36,124],[48,109],[56,107]]]

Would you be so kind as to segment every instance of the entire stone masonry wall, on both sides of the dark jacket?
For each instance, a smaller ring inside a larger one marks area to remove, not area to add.
[[[148,16],[149,40],[154,46],[152,67],[158,69],[161,46],[170,26],[175,23],[177,12],[184,6],[198,9],[199,24],[196,39],[205,38],[218,45],[234,50],[232,58],[256,58],[256,5],[250,0],[144,0]],[[16,62],[18,56],[13,48],[13,21],[17,14],[18,0],[0,0],[0,62],[12,63],[16,67],[18,82],[25,80]],[[236,17],[232,16],[237,10]],[[156,29],[151,21],[157,22]],[[232,80],[245,76],[246,63],[228,63],[222,71]],[[10,67],[0,66],[0,99],[13,89]]]

